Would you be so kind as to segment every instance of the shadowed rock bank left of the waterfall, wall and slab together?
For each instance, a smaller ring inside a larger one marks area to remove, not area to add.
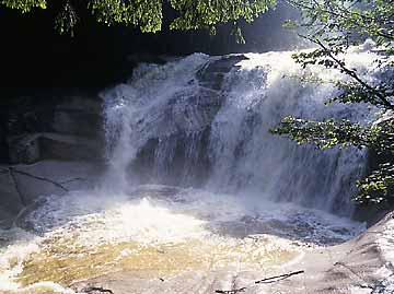
[[[101,107],[100,98],[85,94],[10,101],[0,129],[7,154],[0,166],[0,227],[18,222],[40,196],[61,196],[97,177],[104,148]]]

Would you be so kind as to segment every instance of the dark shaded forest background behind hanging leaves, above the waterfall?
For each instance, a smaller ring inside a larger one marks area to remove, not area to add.
[[[0,86],[5,92],[32,94],[38,89],[102,89],[129,77],[137,62],[154,61],[162,55],[282,50],[291,49],[296,38],[282,28],[283,21],[294,15],[294,11],[283,4],[252,24],[241,22],[244,45],[236,44],[231,24],[220,25],[215,36],[208,30],[169,31],[167,23],[174,17],[169,8],[164,8],[163,31],[157,34],[99,24],[80,8],[80,22],[71,37],[58,35],[54,30],[58,10],[55,2],[49,1],[46,10],[36,9],[27,14],[0,8]]]

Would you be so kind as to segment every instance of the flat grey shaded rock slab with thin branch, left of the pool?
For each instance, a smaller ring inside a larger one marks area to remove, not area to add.
[[[12,225],[40,196],[91,188],[103,170],[100,164],[61,161],[0,168],[0,227],[3,228]]]

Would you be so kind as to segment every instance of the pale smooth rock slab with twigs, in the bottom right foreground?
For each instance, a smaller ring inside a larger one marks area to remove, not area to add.
[[[393,223],[393,213],[387,214],[354,240],[327,248],[305,249],[304,257],[299,261],[265,271],[225,268],[209,272],[184,272],[171,279],[144,278],[152,277],[152,272],[120,271],[78,282],[72,289],[82,293],[88,293],[90,289],[101,289],[114,294],[392,293],[385,292],[390,270],[383,273],[382,268],[393,269],[393,260],[386,259],[387,248],[383,248],[381,243],[393,239],[393,232],[386,230],[387,225],[394,227]],[[255,283],[300,270],[304,273],[275,282]]]

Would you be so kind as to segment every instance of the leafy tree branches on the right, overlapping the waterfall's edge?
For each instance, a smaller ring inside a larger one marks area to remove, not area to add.
[[[340,94],[327,103],[366,103],[378,107],[384,119],[369,125],[349,120],[311,121],[287,117],[273,133],[287,136],[299,144],[327,148],[368,148],[384,158],[371,176],[357,183],[355,200],[360,203],[394,202],[394,5],[391,0],[288,0],[302,13],[299,22],[288,27],[315,45],[315,49],[293,55],[302,68],[323,66],[348,75],[336,82]],[[374,66],[386,77],[379,82],[364,81],[357,70],[346,64],[344,55],[350,46],[372,39],[379,51]]]

